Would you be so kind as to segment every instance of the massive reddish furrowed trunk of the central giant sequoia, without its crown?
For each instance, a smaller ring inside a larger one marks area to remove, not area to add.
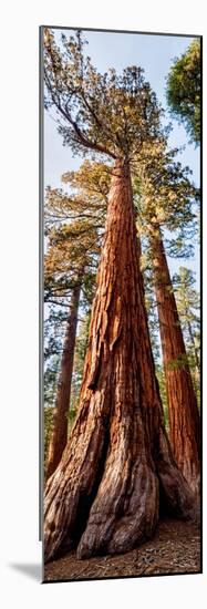
[[[132,549],[192,493],[172,456],[144,308],[127,164],[116,162],[80,409],[45,489],[45,560]]]

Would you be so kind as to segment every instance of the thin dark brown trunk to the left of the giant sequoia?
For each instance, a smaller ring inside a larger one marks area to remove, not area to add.
[[[61,358],[60,375],[56,390],[53,431],[49,445],[46,478],[56,469],[68,441],[68,413],[71,398],[71,382],[75,349],[77,311],[81,281],[73,288]]]

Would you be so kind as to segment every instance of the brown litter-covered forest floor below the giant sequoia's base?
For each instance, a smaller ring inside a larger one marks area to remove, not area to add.
[[[200,527],[166,519],[153,539],[126,554],[77,560],[70,551],[45,565],[44,581],[200,572]]]

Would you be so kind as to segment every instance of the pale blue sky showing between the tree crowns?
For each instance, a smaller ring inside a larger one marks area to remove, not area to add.
[[[73,32],[69,32],[73,33]],[[66,34],[66,31],[64,30]],[[145,78],[156,92],[158,101],[166,110],[166,120],[173,122],[173,132],[169,136],[170,146],[184,146],[185,151],[179,155],[183,165],[189,165],[193,169],[193,179],[199,186],[199,148],[188,143],[188,137],[183,125],[169,117],[165,87],[166,76],[176,56],[179,56],[189,47],[193,38],[169,37],[155,34],[130,34],[118,32],[84,31],[89,41],[86,53],[100,72],[114,66],[121,72],[127,65],[137,64],[145,71]],[[60,31],[55,30],[55,38],[60,40]],[[61,174],[70,169],[76,169],[82,163],[82,157],[73,158],[69,147],[62,145],[62,138],[58,134],[56,124],[52,116],[44,115],[44,184],[51,187],[63,186]],[[199,250],[195,251],[194,259],[169,260],[170,272],[175,272],[179,265],[188,266],[199,277]]]

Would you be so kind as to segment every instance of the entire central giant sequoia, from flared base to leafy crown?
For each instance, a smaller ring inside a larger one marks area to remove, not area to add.
[[[164,427],[131,184],[161,112],[139,69],[101,75],[80,34],[62,45],[45,31],[46,105],[74,152],[103,153],[114,166],[77,417],[45,488],[45,560],[73,546],[80,558],[131,549],[153,534],[159,509],[192,509]]]

